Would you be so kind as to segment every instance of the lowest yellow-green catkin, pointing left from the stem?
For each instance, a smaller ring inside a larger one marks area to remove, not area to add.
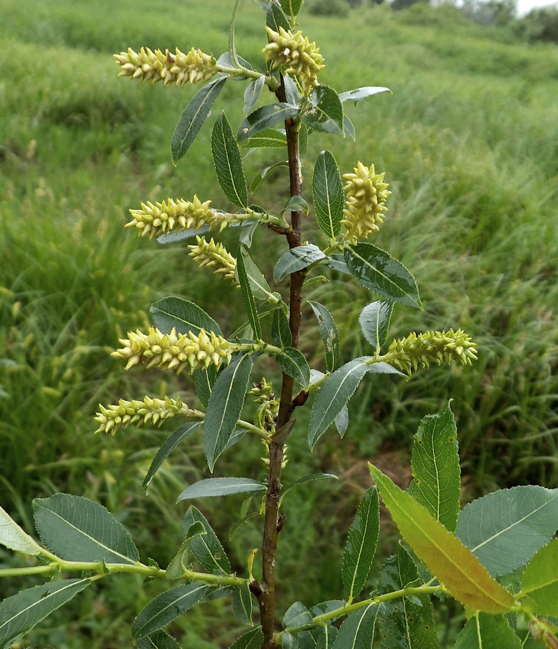
[[[110,433],[114,435],[119,428],[126,428],[135,424],[139,428],[142,424],[162,424],[165,419],[182,415],[183,417],[201,417],[202,412],[188,408],[180,398],[164,399],[145,396],[142,401],[133,399],[126,401],[120,399],[117,404],[99,404],[99,412],[94,417],[99,424],[96,433]]]

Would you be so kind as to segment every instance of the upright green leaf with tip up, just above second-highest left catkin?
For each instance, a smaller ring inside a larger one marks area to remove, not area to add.
[[[225,111],[219,115],[213,126],[211,155],[217,179],[225,196],[234,205],[248,207],[248,190],[239,145],[232,135]]]

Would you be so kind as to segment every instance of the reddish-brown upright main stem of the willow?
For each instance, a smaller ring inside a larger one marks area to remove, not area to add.
[[[278,100],[285,101],[285,87],[281,82],[276,91]],[[299,165],[299,133],[292,119],[285,121],[287,132],[287,154],[289,157],[290,195],[302,195],[302,179]],[[287,234],[289,248],[301,244],[302,212],[291,212],[291,232]],[[299,346],[301,327],[302,285],[304,276],[294,273],[290,276],[289,326],[292,333],[292,347]],[[294,379],[283,373],[281,400],[277,417],[276,431],[285,426],[294,410],[292,400]],[[277,649],[273,642],[275,632],[275,557],[277,551],[278,509],[280,498],[281,464],[283,461],[285,439],[272,440],[269,445],[269,477],[266,495],[266,515],[264,522],[264,539],[262,542],[262,583],[258,595],[259,612],[262,618],[264,643],[262,649]]]

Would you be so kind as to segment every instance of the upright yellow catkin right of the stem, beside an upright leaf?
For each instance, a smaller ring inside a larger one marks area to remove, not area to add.
[[[345,239],[352,244],[377,232],[377,223],[384,223],[382,212],[387,210],[386,200],[391,195],[384,175],[377,174],[374,165],[365,167],[360,161],[353,174],[343,174],[347,199],[341,223],[347,228]]]

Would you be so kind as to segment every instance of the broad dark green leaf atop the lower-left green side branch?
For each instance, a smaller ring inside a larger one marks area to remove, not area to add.
[[[33,500],[35,525],[45,546],[61,559],[135,563],[137,548],[123,525],[98,502],[68,493]]]

